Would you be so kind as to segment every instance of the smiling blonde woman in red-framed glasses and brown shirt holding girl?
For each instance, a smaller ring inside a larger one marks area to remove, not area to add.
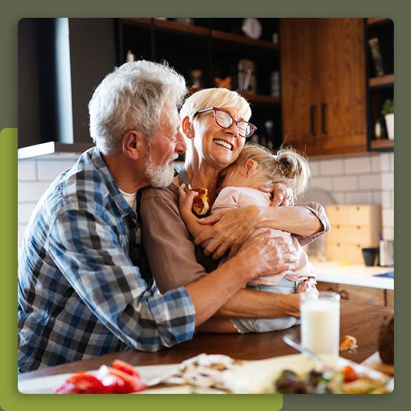
[[[192,187],[208,190],[211,207],[216,199],[221,171],[238,158],[246,137],[251,136],[256,127],[249,123],[249,103],[237,92],[225,88],[204,89],[191,95],[182,106],[180,117],[182,134],[187,143],[184,172],[175,177],[169,187],[145,189],[140,201],[142,240],[153,277],[161,292],[175,286],[185,286],[216,271],[218,264],[215,260],[219,260],[227,250],[235,253],[258,225],[303,235],[308,232],[310,237],[300,238],[305,242],[314,238],[314,233],[318,232],[315,236],[320,236],[327,230],[327,219],[319,205],[265,208],[272,210],[250,206],[223,212],[221,221],[213,225],[220,227],[223,236],[210,234],[207,240],[211,241],[202,245],[206,249],[196,247],[179,212],[179,177],[184,175],[186,184],[190,182]],[[275,212],[276,218],[273,218],[271,211]],[[287,214],[283,214],[284,211]],[[266,217],[262,218],[263,214]],[[321,220],[319,216],[322,216]],[[292,231],[290,222],[297,223],[294,229],[304,227],[306,232]],[[270,266],[271,273],[294,269],[296,258],[291,242],[274,238],[272,246],[277,247],[279,253],[277,262]],[[266,258],[260,251],[253,255],[256,262],[264,262]],[[208,257],[210,253],[214,253],[214,259]],[[225,264],[219,269],[223,269]],[[212,286],[209,291],[214,292]],[[299,297],[295,294],[272,295],[269,292],[242,289],[218,315],[248,318],[298,316]]]

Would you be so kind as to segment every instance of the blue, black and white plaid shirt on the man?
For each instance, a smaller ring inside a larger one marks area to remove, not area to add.
[[[19,254],[19,372],[192,338],[186,289],[155,293],[133,264],[136,227],[98,149],[54,180]]]

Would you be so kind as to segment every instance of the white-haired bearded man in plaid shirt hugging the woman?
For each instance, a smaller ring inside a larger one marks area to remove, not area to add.
[[[143,279],[136,193],[173,179],[173,160],[186,149],[177,112],[185,92],[182,76],[147,61],[123,64],[96,88],[89,112],[97,147],[54,180],[21,246],[19,372],[171,347],[250,279],[295,264],[290,245],[260,236],[186,287],[160,295]]]

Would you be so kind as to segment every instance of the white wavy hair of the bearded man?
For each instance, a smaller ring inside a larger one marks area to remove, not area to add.
[[[119,147],[129,129],[141,132],[150,144],[165,101],[179,107],[185,95],[184,77],[166,62],[125,63],[103,79],[88,103],[90,136],[104,154]]]

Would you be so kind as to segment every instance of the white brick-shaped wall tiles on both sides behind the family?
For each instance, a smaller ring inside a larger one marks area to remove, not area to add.
[[[37,201],[73,158],[18,161],[18,234],[22,238]],[[394,238],[394,154],[311,160],[312,188],[326,190],[339,204],[381,204],[383,235]]]

